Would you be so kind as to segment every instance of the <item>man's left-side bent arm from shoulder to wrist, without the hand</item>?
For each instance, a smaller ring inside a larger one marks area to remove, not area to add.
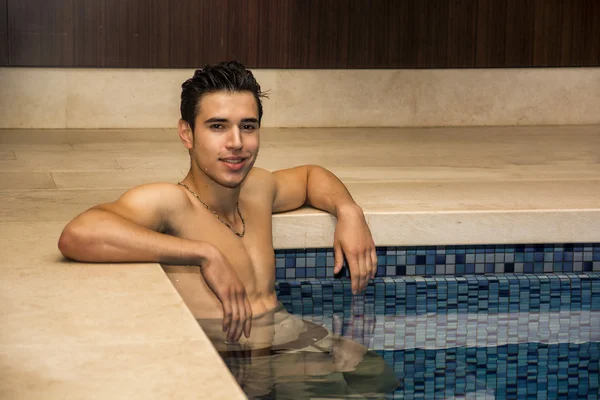
[[[58,241],[61,253],[82,262],[157,262],[200,265],[206,244],[161,233],[169,210],[165,200],[181,202],[163,184],[129,190],[114,203],[101,204],[77,216]]]

